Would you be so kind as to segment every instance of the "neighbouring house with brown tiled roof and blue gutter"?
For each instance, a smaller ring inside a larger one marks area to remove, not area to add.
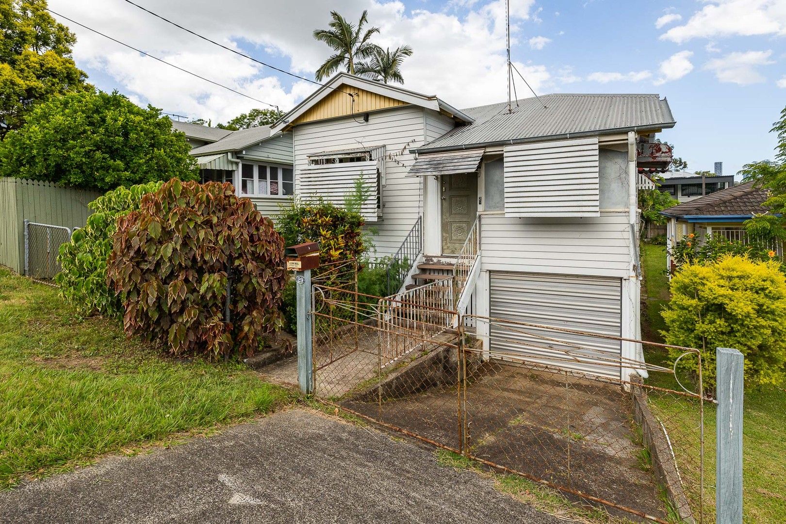
[[[743,222],[753,218],[754,214],[766,212],[767,208],[762,204],[768,198],[766,189],[756,187],[754,182],[745,182],[661,211],[669,218],[667,249],[670,251],[691,233],[698,244],[703,244],[713,235],[747,243],[749,239]],[[773,251],[783,256],[783,244],[773,244]],[[671,269],[668,255],[667,269]]]

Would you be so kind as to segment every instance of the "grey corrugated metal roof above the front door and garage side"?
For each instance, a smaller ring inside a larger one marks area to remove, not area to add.
[[[514,103],[512,113],[507,102],[462,111],[475,123],[456,127],[418,151],[674,126],[668,102],[657,94],[548,94],[540,101]]]

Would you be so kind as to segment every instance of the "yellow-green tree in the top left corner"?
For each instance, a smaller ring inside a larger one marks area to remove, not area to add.
[[[0,0],[0,138],[19,129],[36,103],[92,89],[72,60],[74,42],[45,0]]]

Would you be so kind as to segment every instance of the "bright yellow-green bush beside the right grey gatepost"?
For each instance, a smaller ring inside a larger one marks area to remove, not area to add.
[[[745,355],[747,386],[783,383],[786,277],[779,266],[725,255],[717,262],[687,263],[672,277],[663,335],[669,344],[702,350],[707,388],[715,385],[717,347],[736,348]],[[695,357],[684,357],[680,365],[696,372]]]

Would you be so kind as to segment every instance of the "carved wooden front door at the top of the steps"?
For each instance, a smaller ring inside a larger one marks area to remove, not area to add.
[[[442,177],[443,255],[458,255],[478,210],[478,174]]]

